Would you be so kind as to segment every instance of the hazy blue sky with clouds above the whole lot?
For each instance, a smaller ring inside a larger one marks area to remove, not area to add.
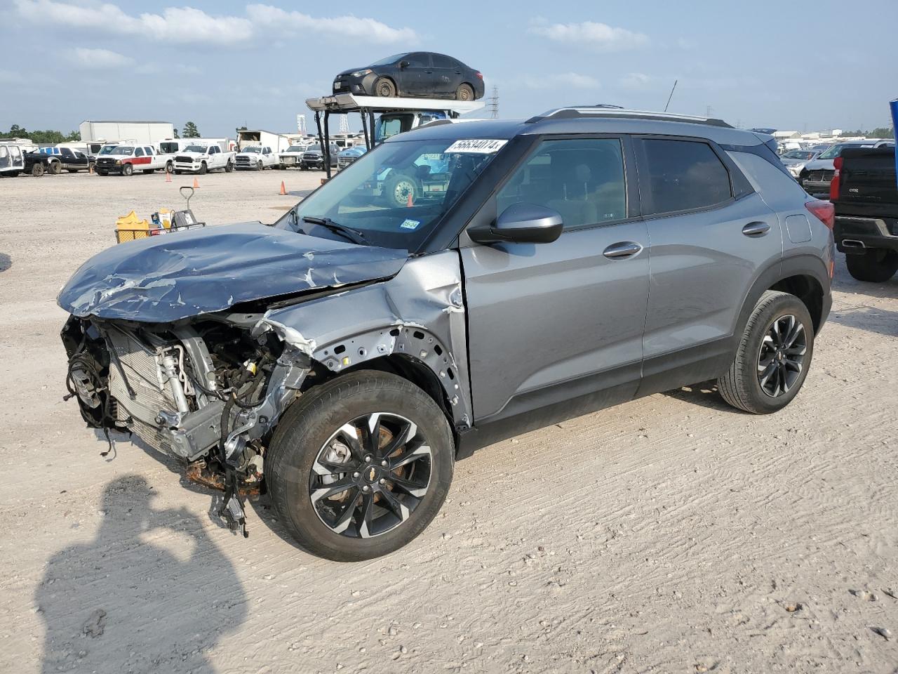
[[[482,71],[504,118],[592,102],[660,110],[674,79],[670,111],[710,106],[778,129],[885,126],[898,97],[896,0],[0,0],[0,26],[0,129],[294,130],[340,70],[408,49]]]

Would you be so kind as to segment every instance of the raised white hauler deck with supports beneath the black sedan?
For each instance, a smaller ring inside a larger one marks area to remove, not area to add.
[[[374,138],[374,115],[389,112],[444,111],[451,119],[467,112],[478,111],[485,105],[482,101],[454,101],[445,98],[383,98],[381,96],[357,96],[354,93],[335,93],[320,98],[307,98],[305,104],[315,113],[318,128],[318,142],[324,154],[324,170],[330,178],[330,115],[345,115],[358,112],[362,117],[362,134],[365,148],[371,150],[376,144]]]

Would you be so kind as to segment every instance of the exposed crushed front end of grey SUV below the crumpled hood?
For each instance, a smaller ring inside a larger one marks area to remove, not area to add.
[[[173,324],[71,316],[66,385],[88,426],[133,433],[225,487],[222,515],[245,534],[241,492],[258,491],[266,443],[312,371],[313,345],[259,315]]]

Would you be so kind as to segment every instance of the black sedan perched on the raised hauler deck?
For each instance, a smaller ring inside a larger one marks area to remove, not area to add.
[[[334,78],[333,92],[474,101],[483,96],[483,75],[456,58],[411,51],[345,70]]]

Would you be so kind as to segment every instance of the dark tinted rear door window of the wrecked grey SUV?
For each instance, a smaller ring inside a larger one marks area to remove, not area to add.
[[[640,145],[643,215],[713,208],[733,197],[729,172],[708,143],[643,138]]]

